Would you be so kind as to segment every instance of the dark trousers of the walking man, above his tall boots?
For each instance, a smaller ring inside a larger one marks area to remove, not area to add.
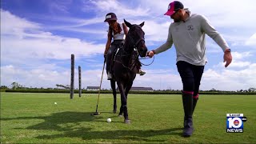
[[[182,78],[183,91],[198,97],[199,86],[205,66],[194,66],[188,62],[177,62],[178,73]]]

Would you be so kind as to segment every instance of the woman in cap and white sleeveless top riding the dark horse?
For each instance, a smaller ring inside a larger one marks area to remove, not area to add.
[[[107,73],[107,79],[112,79],[112,59],[113,59],[113,53],[115,50],[118,49],[118,47],[122,47],[124,44],[126,35],[128,33],[128,29],[125,23],[118,23],[118,18],[116,14],[109,13],[106,14],[106,19],[104,22],[108,22],[109,24],[109,30],[107,34],[107,42],[106,42],[106,49],[104,52],[104,57],[106,58],[106,73]],[[114,42],[111,43],[112,38],[114,39]],[[140,67],[141,64],[138,62],[138,66]],[[138,74],[144,75],[146,74],[145,71],[139,69]]]

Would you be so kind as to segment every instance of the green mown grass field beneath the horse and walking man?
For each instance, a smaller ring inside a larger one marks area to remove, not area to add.
[[[180,95],[130,94],[129,125],[112,114],[111,94],[100,95],[101,114],[91,116],[97,98],[98,94],[70,99],[70,94],[1,93],[1,143],[256,143],[256,95],[200,95],[190,138],[181,136]],[[247,117],[243,133],[226,133],[228,113]]]

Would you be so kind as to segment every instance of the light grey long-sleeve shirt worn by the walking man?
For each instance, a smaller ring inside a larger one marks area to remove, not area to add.
[[[195,66],[204,66],[206,58],[206,34],[222,48],[229,46],[222,35],[210,25],[208,20],[200,14],[190,14],[185,22],[173,22],[169,27],[169,34],[162,46],[155,51],[156,54],[170,49],[174,44],[177,54],[176,61],[185,61]]]

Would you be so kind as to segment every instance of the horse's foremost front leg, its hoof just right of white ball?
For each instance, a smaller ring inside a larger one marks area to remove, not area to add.
[[[124,89],[124,84],[122,82],[118,82],[118,89],[120,91],[121,94],[121,102],[122,102],[122,106],[120,107],[120,113],[122,114],[123,111],[123,116],[125,117],[125,123],[130,123],[130,120],[128,118],[128,110],[127,110],[127,99],[126,99],[126,92]]]

